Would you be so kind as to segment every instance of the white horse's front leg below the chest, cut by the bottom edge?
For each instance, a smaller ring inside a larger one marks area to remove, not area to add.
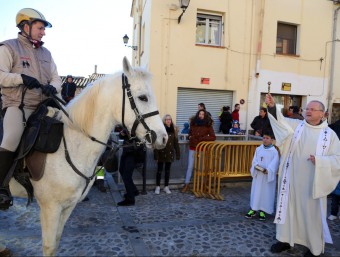
[[[44,256],[55,256],[57,251],[57,232],[59,230],[61,207],[40,206],[40,222]]]

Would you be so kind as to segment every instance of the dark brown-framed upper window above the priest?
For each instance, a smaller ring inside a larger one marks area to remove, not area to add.
[[[296,55],[297,26],[277,24],[276,53]]]

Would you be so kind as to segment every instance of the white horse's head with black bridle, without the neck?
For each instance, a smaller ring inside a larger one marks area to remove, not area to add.
[[[164,148],[168,139],[151,87],[151,74],[132,68],[126,57],[122,74],[122,124],[146,145]]]

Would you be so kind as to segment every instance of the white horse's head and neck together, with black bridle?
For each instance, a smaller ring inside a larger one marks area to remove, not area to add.
[[[124,125],[148,147],[164,148],[168,139],[151,87],[151,74],[123,59],[123,73],[94,81],[68,106],[70,127],[101,140],[115,124]]]

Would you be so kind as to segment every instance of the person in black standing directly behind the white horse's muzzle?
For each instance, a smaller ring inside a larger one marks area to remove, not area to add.
[[[120,158],[119,173],[122,176],[124,182],[126,194],[124,194],[124,200],[119,202],[118,206],[131,206],[135,205],[135,196],[139,195],[139,191],[133,182],[133,171],[138,163],[144,163],[146,148],[144,144],[138,146],[138,142],[130,141],[126,131],[123,129],[119,134],[120,139],[124,139],[123,153]]]

